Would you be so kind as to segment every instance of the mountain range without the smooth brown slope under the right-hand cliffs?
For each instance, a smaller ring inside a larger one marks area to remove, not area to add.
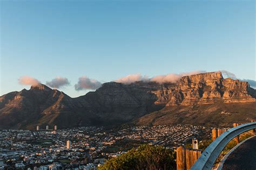
[[[77,98],[39,84],[0,97],[0,128],[127,123],[163,108],[255,103],[255,91],[247,82],[224,79],[220,72],[184,76],[175,84],[109,82]]]

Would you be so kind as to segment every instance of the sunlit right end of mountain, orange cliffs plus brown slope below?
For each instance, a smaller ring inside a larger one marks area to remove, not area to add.
[[[164,109],[134,122],[210,126],[246,123],[256,119],[255,92],[247,82],[224,79],[220,72],[185,76],[168,90]]]

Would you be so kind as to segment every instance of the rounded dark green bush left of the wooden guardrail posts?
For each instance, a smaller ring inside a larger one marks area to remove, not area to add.
[[[174,152],[163,146],[141,145],[99,167],[105,169],[176,169]]]

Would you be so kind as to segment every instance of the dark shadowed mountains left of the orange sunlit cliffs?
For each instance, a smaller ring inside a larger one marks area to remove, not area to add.
[[[159,110],[157,96],[150,92],[159,84],[142,82],[104,83],[96,91],[71,98],[43,84],[0,97],[0,128],[29,128],[55,125],[111,125],[132,121]]]

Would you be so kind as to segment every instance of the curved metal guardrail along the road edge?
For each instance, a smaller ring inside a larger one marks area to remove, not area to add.
[[[232,129],[228,129],[216,138],[201,154],[196,163],[191,167],[192,170],[212,169],[214,162],[219,157],[220,152],[230,140],[248,130],[256,129],[256,122],[242,124]]]

